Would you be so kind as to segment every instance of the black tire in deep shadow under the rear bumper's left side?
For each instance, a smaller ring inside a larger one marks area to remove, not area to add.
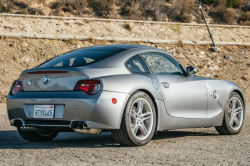
[[[58,135],[58,132],[49,130],[44,132],[27,132],[23,131],[20,127],[17,130],[23,139],[30,142],[50,142]]]

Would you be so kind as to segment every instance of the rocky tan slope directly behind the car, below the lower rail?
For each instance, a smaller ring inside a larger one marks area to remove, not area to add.
[[[22,70],[32,68],[48,58],[94,44],[117,44],[107,41],[58,41],[48,39],[0,39],[0,102],[5,102],[10,86]],[[250,101],[250,48],[224,46],[221,52],[210,52],[209,46],[142,44],[172,53],[185,66],[198,68],[198,76],[226,79],[239,85]]]

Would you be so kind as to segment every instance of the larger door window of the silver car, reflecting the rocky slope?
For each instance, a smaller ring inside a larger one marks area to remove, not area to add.
[[[167,55],[160,53],[143,53],[141,55],[147,62],[153,74],[183,75],[179,63]]]

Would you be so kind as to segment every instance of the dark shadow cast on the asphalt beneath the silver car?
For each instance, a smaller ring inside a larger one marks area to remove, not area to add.
[[[187,136],[215,136],[205,132],[192,131],[162,131],[154,136],[153,140],[171,139]],[[51,142],[28,142],[21,138],[16,130],[0,131],[0,149],[54,149],[54,148],[121,148],[109,132],[99,135],[77,133],[59,133]]]

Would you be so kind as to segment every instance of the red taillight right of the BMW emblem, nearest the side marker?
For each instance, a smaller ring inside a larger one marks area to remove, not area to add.
[[[81,80],[75,86],[75,90],[82,90],[90,95],[96,94],[100,89],[101,82],[99,80]]]

